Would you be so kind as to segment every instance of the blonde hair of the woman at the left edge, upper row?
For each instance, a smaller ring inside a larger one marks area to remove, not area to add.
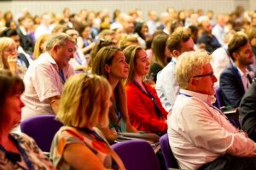
[[[15,41],[10,37],[0,37],[0,68],[3,66],[4,69],[8,69],[7,61],[3,61],[3,51],[9,48]]]

